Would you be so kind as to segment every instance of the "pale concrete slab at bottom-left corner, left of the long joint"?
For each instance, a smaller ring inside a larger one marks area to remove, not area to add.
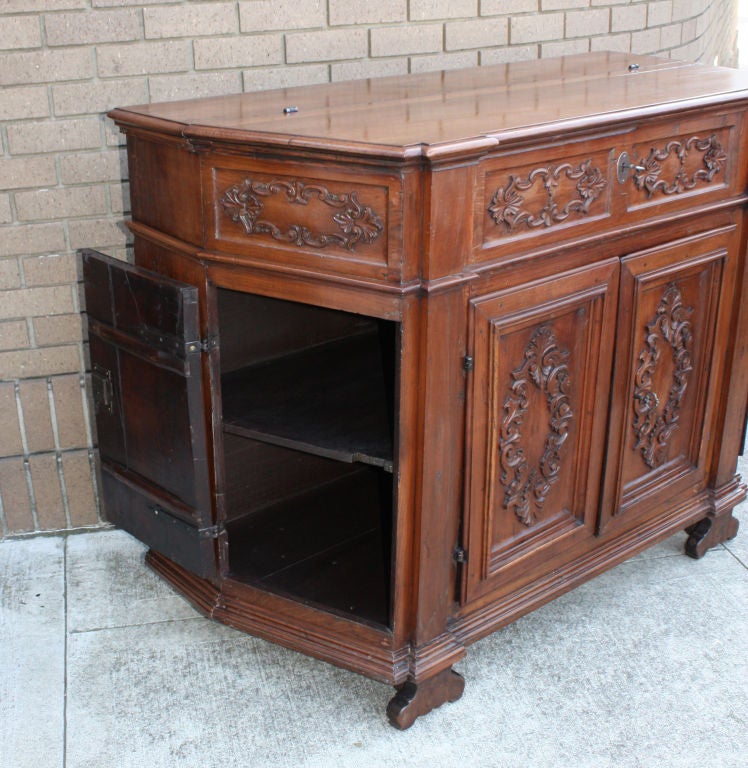
[[[61,768],[64,539],[0,542],[0,768]]]

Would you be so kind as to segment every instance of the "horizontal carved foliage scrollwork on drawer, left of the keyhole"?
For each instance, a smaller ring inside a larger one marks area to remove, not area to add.
[[[563,179],[576,182],[575,196],[565,203],[556,200],[557,190]],[[536,182],[545,189],[545,200],[541,210],[533,212],[527,210],[525,198],[520,193],[532,189]],[[586,214],[607,183],[600,169],[592,167],[591,160],[585,160],[576,167],[570,163],[562,163],[558,166],[536,168],[526,179],[509,176],[507,184],[499,187],[494,193],[488,213],[496,224],[503,224],[507,232],[512,232],[522,224],[529,229],[550,227],[566,220],[572,213]]]

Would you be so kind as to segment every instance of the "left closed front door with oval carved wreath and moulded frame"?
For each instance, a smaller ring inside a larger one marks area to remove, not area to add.
[[[470,304],[464,600],[595,534],[617,289],[612,259]]]

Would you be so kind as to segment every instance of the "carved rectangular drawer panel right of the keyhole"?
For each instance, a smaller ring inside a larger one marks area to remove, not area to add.
[[[650,216],[736,192],[737,144],[735,121],[724,116],[640,130],[622,148],[628,153],[626,210]]]

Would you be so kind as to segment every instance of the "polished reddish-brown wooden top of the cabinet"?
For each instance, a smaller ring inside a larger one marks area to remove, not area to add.
[[[600,52],[149,104],[110,117],[197,141],[438,158],[741,99],[748,72]]]

